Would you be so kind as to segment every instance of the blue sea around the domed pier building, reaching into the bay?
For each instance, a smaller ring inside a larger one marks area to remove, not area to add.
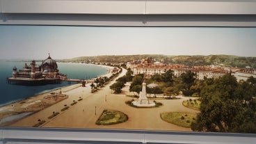
[[[12,76],[13,67],[15,66],[17,70],[21,70],[24,67],[24,63],[29,64],[30,62],[0,60],[0,106],[74,83],[63,81],[61,84],[49,84],[45,86],[19,86],[6,83],[6,78]],[[40,65],[41,63],[37,62],[36,64]],[[97,65],[77,63],[57,64],[58,70],[62,74],[67,74],[67,78],[70,79],[92,79],[108,72],[106,68]]]

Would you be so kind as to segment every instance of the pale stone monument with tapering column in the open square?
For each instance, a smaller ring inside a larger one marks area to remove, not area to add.
[[[137,101],[132,102],[134,106],[138,107],[152,107],[155,106],[156,104],[154,102],[150,102],[147,99],[147,91],[146,91],[146,83],[142,83],[142,91],[139,93],[139,97]]]

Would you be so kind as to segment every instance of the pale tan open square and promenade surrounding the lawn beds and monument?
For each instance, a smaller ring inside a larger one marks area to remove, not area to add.
[[[126,70],[123,70],[119,77],[122,77],[126,72]],[[118,77],[115,79],[118,79]],[[86,87],[75,84],[67,86],[66,89],[62,88],[63,93],[68,95],[68,98],[26,116],[22,120],[13,122],[9,126],[32,127],[38,123],[38,120],[45,120],[45,123],[40,125],[40,127],[191,131],[189,128],[170,124],[160,118],[160,113],[170,111],[198,113],[198,111],[182,105],[182,101],[189,99],[189,97],[182,97],[182,99],[159,99],[157,102],[161,102],[163,106],[150,109],[136,109],[125,104],[125,101],[132,99],[131,97],[127,97],[127,95],[131,95],[129,93],[129,84],[126,84],[121,94],[112,94],[109,86],[115,82],[115,79],[103,88],[100,88],[96,93],[90,93],[90,83],[87,83]],[[78,99],[82,100],[78,101]],[[74,101],[77,104],[71,106]],[[38,102],[38,104],[40,103]],[[70,106],[70,108],[66,111],[61,111],[65,105]],[[117,125],[96,125],[95,122],[104,109],[122,111],[128,115],[129,120]],[[53,112],[60,114],[48,119]]]

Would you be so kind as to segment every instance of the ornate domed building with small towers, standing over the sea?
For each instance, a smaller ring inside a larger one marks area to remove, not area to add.
[[[22,70],[17,71],[17,67],[13,67],[13,77],[8,78],[8,83],[21,85],[44,85],[49,83],[60,83],[66,80],[67,75],[61,74],[58,65],[49,55],[41,65],[36,65],[35,61],[31,61],[30,65],[24,64]]]

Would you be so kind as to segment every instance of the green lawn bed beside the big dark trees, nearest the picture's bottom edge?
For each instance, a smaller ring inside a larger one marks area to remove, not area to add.
[[[193,113],[181,113],[181,112],[169,112],[160,113],[161,119],[178,125],[181,127],[191,127],[191,122],[195,122],[196,114]]]

